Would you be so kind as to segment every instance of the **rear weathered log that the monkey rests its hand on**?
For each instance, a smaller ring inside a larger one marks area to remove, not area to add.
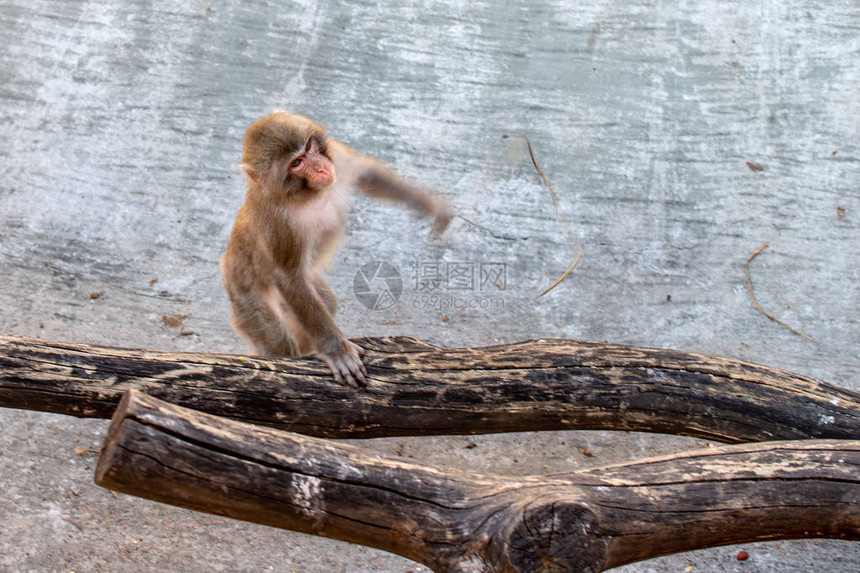
[[[0,406],[110,418],[122,393],[328,438],[608,429],[737,443],[860,438],[860,395],[745,363],[590,341],[363,338],[367,388],[268,360],[0,335]]]

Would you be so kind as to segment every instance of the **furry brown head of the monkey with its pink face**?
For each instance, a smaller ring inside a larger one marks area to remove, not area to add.
[[[257,120],[245,134],[243,170],[268,193],[301,200],[334,183],[334,164],[321,127],[279,112]]]

